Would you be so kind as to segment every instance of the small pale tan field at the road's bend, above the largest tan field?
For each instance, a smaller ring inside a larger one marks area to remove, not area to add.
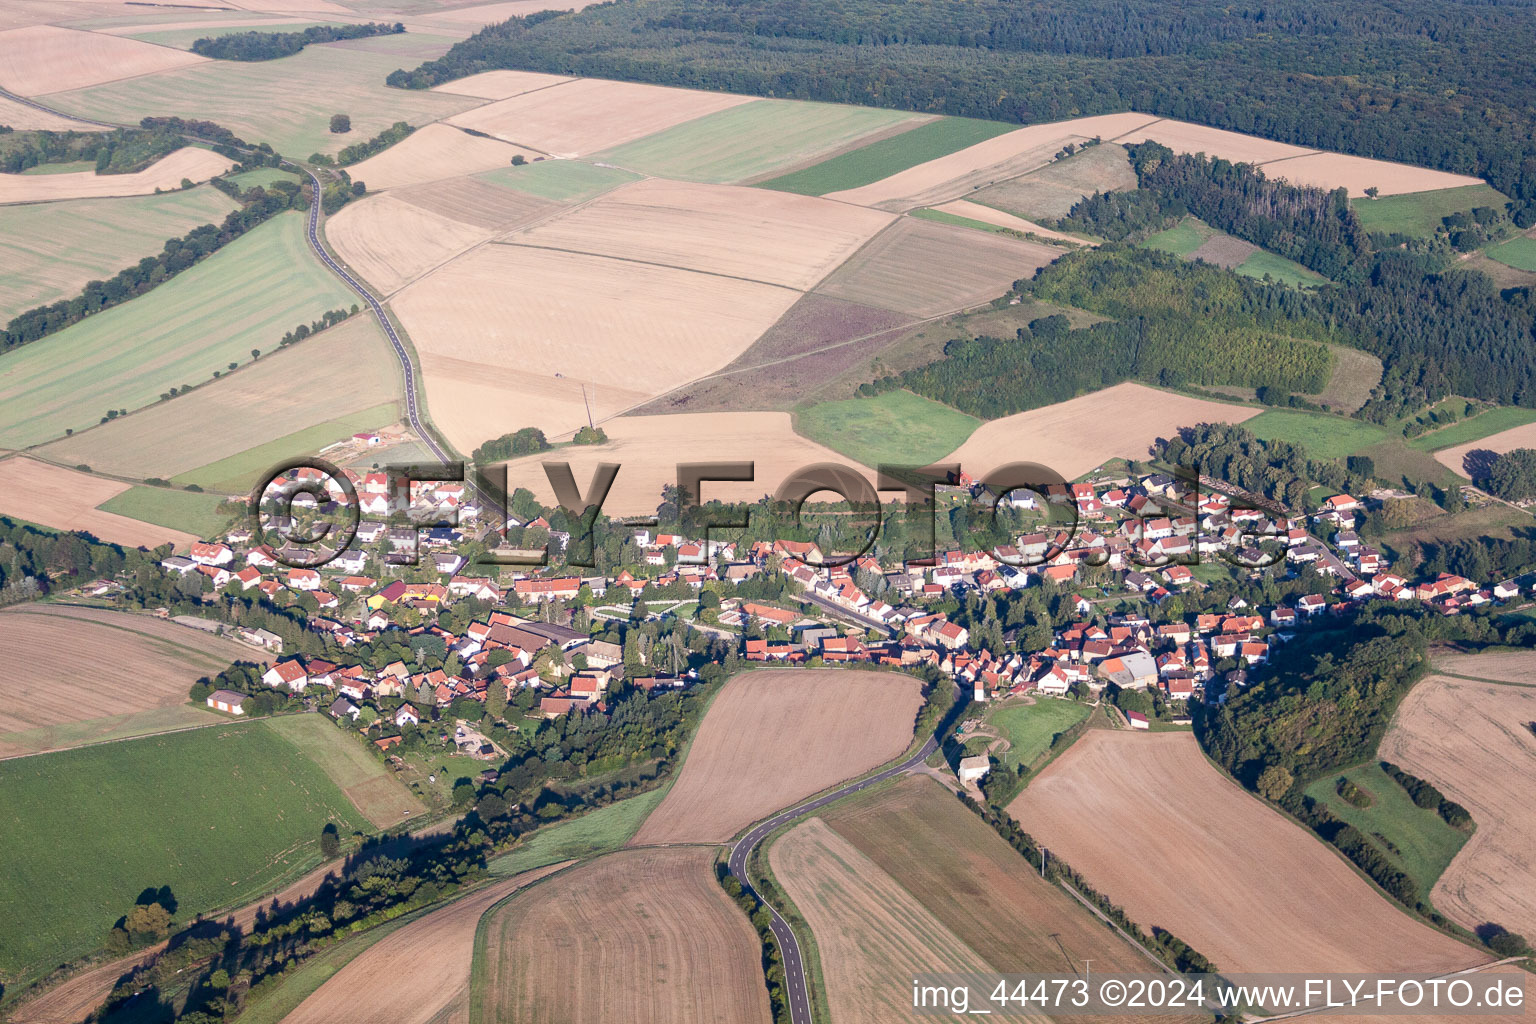
[[[409,203],[370,195],[326,223],[336,255],[382,295],[401,287],[495,235]]]

